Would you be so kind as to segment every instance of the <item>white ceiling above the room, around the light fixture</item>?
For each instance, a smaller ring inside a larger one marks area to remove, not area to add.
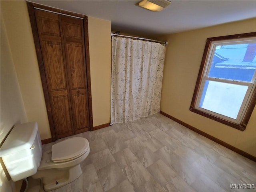
[[[134,0],[32,0],[39,4],[111,21],[111,29],[129,34],[171,34],[256,17],[255,0],[171,0],[160,12]],[[256,30],[256,29],[255,29]]]

